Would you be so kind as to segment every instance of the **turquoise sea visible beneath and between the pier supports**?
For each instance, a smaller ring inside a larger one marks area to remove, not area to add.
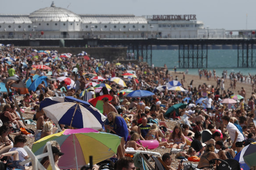
[[[178,50],[152,50],[152,63],[155,67],[163,67],[166,64],[169,70],[174,70],[174,66],[176,66],[178,72],[185,72],[186,69],[179,68],[178,52]],[[148,63],[150,64],[150,59],[148,59]],[[243,75],[256,74],[256,68],[237,67],[237,49],[208,49],[208,68],[200,69],[212,72],[215,69],[217,76],[221,76],[224,70],[227,70],[228,75],[231,72],[240,72]],[[188,74],[198,75],[198,68],[188,68]]]

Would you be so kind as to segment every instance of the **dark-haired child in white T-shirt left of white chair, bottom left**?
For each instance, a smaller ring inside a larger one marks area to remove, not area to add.
[[[27,142],[27,139],[25,139],[25,136],[22,136],[22,135],[15,136],[14,146],[9,150],[9,152],[18,151],[19,160],[21,162],[29,158],[28,153],[25,151],[25,149],[23,149],[26,142]],[[11,160],[13,160],[13,157],[11,157]],[[29,163],[26,163],[25,166],[28,167]]]

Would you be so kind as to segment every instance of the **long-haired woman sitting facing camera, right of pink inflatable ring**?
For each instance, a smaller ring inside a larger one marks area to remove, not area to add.
[[[181,132],[181,127],[176,125],[171,133],[171,138],[169,141],[173,142],[173,148],[180,149],[182,145],[185,144],[185,136]]]

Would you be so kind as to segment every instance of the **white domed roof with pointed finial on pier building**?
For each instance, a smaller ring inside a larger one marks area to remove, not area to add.
[[[46,8],[42,8],[39,10],[36,10],[34,12],[32,12],[29,15],[29,18],[33,21],[33,22],[49,22],[49,21],[62,21],[62,22],[66,22],[66,21],[70,21],[70,22],[78,22],[81,21],[81,17],[77,14],[75,14],[74,12],[64,9],[64,8],[60,8],[60,7],[55,7],[54,3],[52,3],[51,7],[46,7]]]

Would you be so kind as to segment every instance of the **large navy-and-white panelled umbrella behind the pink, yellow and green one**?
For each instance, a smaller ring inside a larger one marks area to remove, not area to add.
[[[46,97],[40,102],[40,110],[54,123],[74,128],[104,129],[106,117],[86,101],[75,97]]]

